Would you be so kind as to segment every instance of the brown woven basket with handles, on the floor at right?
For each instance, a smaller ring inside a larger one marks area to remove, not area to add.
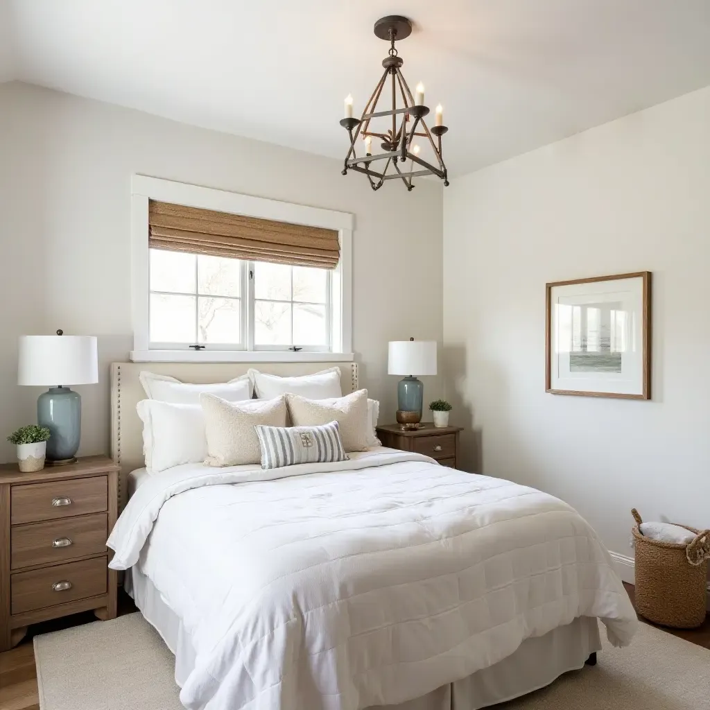
[[[674,628],[694,628],[705,621],[705,595],[710,557],[710,530],[697,533],[687,545],[651,540],[638,526],[643,522],[631,510],[636,549],[636,611],[649,621]]]

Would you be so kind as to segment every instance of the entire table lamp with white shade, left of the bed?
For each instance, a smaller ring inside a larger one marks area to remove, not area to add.
[[[82,430],[82,398],[66,385],[99,381],[97,340],[92,335],[21,335],[18,385],[50,386],[37,400],[37,423],[48,427],[47,465],[77,459]]]

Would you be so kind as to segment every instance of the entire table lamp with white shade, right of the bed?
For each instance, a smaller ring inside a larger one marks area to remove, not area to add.
[[[390,342],[388,368],[391,375],[406,375],[397,386],[397,423],[403,429],[418,429],[422,420],[424,385],[417,375],[437,373],[437,344],[433,340]]]

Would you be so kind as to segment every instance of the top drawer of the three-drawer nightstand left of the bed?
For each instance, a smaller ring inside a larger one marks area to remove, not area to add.
[[[108,508],[108,493],[107,476],[12,486],[10,520],[13,525],[18,525],[102,513]]]

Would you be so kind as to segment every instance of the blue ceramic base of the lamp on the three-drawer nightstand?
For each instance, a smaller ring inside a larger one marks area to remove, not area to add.
[[[48,466],[73,464],[82,431],[82,398],[68,387],[53,387],[37,400],[37,423],[47,427]]]

